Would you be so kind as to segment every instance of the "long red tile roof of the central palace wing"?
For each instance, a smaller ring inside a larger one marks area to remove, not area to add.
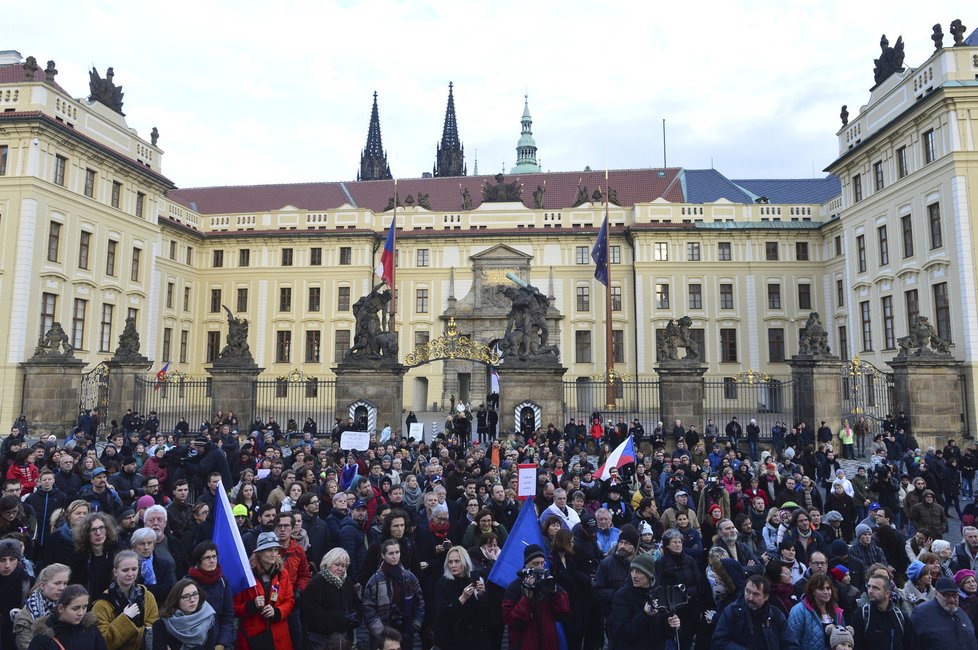
[[[680,183],[674,182],[680,169],[619,169],[609,172],[610,185],[623,206],[653,201],[659,197],[673,203],[685,199]],[[537,185],[546,184],[544,209],[570,208],[577,198],[578,184],[587,188],[588,196],[607,184],[603,171],[546,172],[507,175],[504,183],[518,180],[523,185],[523,205],[533,206]],[[428,195],[433,212],[458,212],[462,209],[462,190],[472,195],[473,208],[482,204],[482,187],[494,185],[492,176],[456,178],[411,178],[398,180],[397,194],[405,205],[408,195]],[[349,193],[349,196],[347,195]],[[245,185],[232,187],[194,187],[173,190],[169,198],[201,214],[237,214],[269,212],[287,205],[303,210],[330,210],[344,203],[381,212],[394,196],[394,181],[359,181],[345,183],[297,183],[292,185]],[[353,201],[350,200],[353,199]]]

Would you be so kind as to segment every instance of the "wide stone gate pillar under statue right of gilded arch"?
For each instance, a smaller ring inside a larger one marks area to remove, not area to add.
[[[551,422],[562,429],[567,368],[557,364],[516,365],[515,360],[509,363],[498,368],[500,435],[519,431],[516,408],[524,402],[540,409],[540,426],[544,429]]]

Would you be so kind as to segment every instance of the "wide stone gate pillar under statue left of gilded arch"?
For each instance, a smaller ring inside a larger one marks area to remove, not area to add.
[[[346,420],[353,404],[368,402],[377,409],[377,430],[390,424],[393,435],[399,436],[404,423],[404,374],[407,371],[407,367],[396,362],[340,363],[333,369],[336,373],[336,417]],[[326,423],[326,430],[332,425],[332,422]]]

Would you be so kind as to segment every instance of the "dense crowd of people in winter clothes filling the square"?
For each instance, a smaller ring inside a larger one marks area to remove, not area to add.
[[[905,414],[763,438],[753,420],[648,424],[385,431],[347,451],[352,423],[290,439],[129,412],[104,442],[29,444],[18,421],[0,444],[0,647],[978,650],[978,499],[959,503],[974,446],[920,449]],[[629,435],[635,462],[599,475]],[[848,475],[837,450],[864,464]],[[237,592],[219,490],[254,576]],[[527,516],[540,543],[513,532]],[[504,547],[522,566],[500,581]]]

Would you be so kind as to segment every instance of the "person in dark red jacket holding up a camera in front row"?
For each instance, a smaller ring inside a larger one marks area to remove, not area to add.
[[[523,549],[523,569],[506,587],[503,622],[509,626],[509,647],[520,650],[556,650],[557,618],[570,612],[567,592],[547,571],[539,544]]]

